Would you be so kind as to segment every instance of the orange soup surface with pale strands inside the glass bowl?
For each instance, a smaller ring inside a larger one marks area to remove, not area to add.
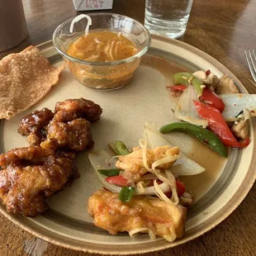
[[[67,54],[85,61],[110,62],[126,59],[138,52],[125,36],[110,31],[92,31],[69,45]]]

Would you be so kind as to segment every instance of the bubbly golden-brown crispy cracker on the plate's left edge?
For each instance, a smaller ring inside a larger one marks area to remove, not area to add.
[[[0,119],[11,119],[39,102],[59,81],[64,65],[53,67],[34,46],[0,61]]]

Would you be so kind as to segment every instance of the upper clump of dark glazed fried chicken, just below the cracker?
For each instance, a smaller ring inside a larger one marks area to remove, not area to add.
[[[101,114],[102,108],[92,101],[68,99],[56,103],[55,114],[44,108],[23,117],[18,131],[28,135],[30,145],[78,152],[92,148],[90,125],[98,121]]]

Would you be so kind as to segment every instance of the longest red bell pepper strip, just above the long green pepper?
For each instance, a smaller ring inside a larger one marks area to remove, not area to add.
[[[237,141],[232,134],[230,127],[226,124],[224,117],[216,107],[206,105],[201,102],[193,101],[198,114],[202,119],[208,120],[209,130],[213,131],[220,137],[220,140],[225,146],[233,148],[244,148],[249,145],[249,138],[244,141]]]

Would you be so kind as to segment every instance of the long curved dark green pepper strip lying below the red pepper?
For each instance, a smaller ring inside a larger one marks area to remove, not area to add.
[[[160,128],[161,133],[168,133],[172,130],[183,131],[188,135],[192,135],[198,140],[201,140],[203,144],[209,146],[211,149],[215,150],[225,158],[228,155],[227,150],[222,144],[220,138],[211,130],[206,130],[204,128],[201,128],[201,126],[195,126],[186,122],[176,122],[162,126]]]

